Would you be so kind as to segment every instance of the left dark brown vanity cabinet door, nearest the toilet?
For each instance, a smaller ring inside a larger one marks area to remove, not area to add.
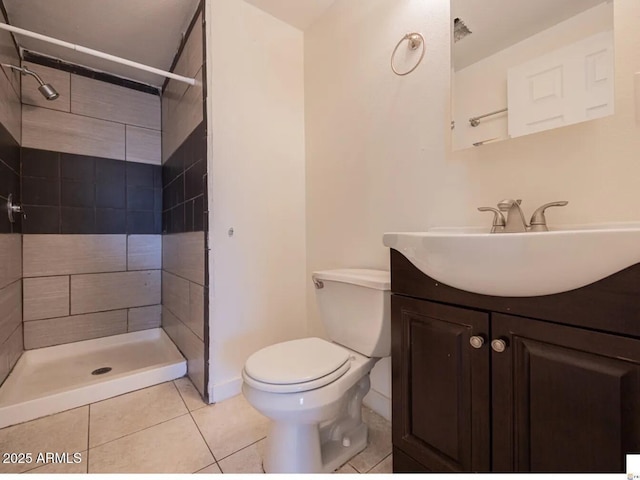
[[[393,443],[435,472],[490,469],[486,313],[394,295]]]

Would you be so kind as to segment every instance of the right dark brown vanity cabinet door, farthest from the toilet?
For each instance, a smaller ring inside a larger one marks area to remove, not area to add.
[[[493,469],[624,472],[640,452],[640,340],[492,316]]]

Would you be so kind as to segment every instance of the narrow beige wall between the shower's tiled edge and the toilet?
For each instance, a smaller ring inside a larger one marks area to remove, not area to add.
[[[305,334],[303,34],[244,1],[209,0],[206,10],[210,398],[219,401],[240,392],[249,355]]]

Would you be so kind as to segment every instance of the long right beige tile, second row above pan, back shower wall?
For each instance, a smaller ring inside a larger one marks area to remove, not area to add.
[[[71,314],[156,305],[160,270],[71,276]]]

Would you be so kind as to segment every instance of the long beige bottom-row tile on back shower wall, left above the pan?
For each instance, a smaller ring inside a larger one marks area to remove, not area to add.
[[[32,320],[24,322],[24,347],[30,350],[121,333],[127,333],[126,310]]]

